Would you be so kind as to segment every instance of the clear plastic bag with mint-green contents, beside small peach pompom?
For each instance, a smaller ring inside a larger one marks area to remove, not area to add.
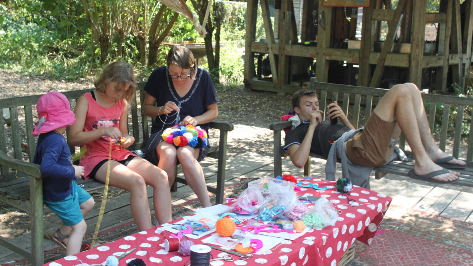
[[[315,202],[314,207],[310,208],[306,215],[304,215],[301,221],[308,227],[323,229],[328,225],[335,225],[337,219],[338,213],[333,208],[333,204],[326,198],[320,198]]]

